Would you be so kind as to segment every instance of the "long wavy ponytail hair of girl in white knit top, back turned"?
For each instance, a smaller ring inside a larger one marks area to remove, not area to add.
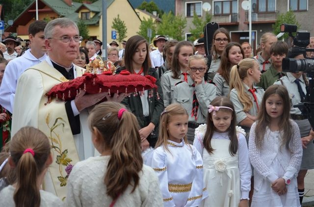
[[[142,170],[141,138],[136,117],[124,105],[116,102],[98,104],[88,117],[89,127],[94,127],[103,138],[103,149],[110,149],[111,155],[105,172],[106,194],[113,200],[132,184],[135,190],[139,184],[138,172]]]

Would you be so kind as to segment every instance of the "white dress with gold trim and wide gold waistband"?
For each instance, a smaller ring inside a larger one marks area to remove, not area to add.
[[[157,147],[145,164],[158,175],[164,207],[197,207],[208,196],[203,183],[203,161],[192,145],[168,140],[167,151]]]

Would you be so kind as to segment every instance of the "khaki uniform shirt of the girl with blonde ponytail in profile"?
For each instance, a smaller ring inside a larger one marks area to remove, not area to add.
[[[247,113],[250,115],[256,116],[258,113],[258,109],[257,109],[256,102],[254,101],[253,94],[251,92],[249,92],[249,87],[246,84],[243,83],[243,86],[244,86],[244,91],[251,97],[251,100],[253,103],[253,107]],[[253,88],[256,90],[255,94],[256,94],[256,97],[258,100],[258,105],[259,105],[259,107],[261,107],[262,97],[264,95],[264,90],[261,87],[255,87],[254,86]],[[231,90],[230,100],[234,104],[236,123],[238,124],[239,122],[244,120],[247,116],[246,116],[246,112],[243,111],[243,104],[238,99],[238,93],[237,93],[236,89]]]

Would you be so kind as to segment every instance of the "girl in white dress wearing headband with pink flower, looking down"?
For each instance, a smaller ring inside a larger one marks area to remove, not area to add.
[[[221,96],[209,105],[207,125],[195,130],[193,145],[203,157],[209,192],[201,207],[248,206],[251,165],[244,130],[235,125],[234,106]]]

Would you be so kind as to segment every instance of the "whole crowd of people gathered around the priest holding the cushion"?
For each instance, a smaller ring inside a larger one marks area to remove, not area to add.
[[[301,206],[314,131],[295,105],[309,80],[284,72],[282,60],[306,55],[274,34],[262,35],[256,55],[225,28],[214,32],[209,56],[204,38],[161,35],[154,51],[139,35],[121,50],[113,41],[116,74],[153,76],[156,89],[82,91],[47,104],[46,93],[82,76],[103,43],[81,46],[65,18],[34,21],[28,33],[29,49],[15,56],[20,44],[9,36],[0,58],[4,206]]]

